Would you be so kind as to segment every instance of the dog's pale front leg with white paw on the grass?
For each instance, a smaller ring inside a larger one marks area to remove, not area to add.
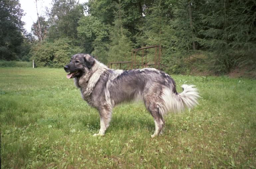
[[[105,135],[106,129],[109,127],[111,117],[112,117],[112,110],[108,106],[104,106],[102,108],[99,108],[99,114],[100,114],[100,119],[101,119],[101,129],[99,133],[93,134],[94,136],[97,135]]]

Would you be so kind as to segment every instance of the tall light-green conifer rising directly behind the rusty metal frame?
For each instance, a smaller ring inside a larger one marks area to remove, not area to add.
[[[169,65],[171,59],[170,52],[175,50],[172,42],[176,39],[170,26],[172,11],[168,8],[168,3],[169,1],[167,0],[156,0],[145,11],[145,24],[142,27],[143,38],[140,41],[142,46],[159,45],[161,64],[164,65]],[[155,50],[149,51],[151,52],[147,54],[147,60],[149,63],[154,63]]]

